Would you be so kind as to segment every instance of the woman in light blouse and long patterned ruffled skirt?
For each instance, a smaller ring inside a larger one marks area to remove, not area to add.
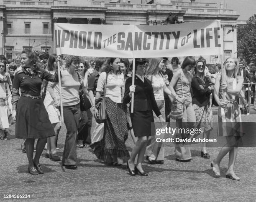
[[[126,120],[126,108],[121,102],[121,88],[124,85],[124,76],[120,74],[120,59],[110,58],[106,72],[100,74],[97,83],[95,104],[100,98],[104,87],[106,88],[106,113],[107,120],[104,123],[104,134],[102,140],[90,145],[98,159],[106,165],[119,166],[127,162],[130,155],[125,146],[128,138]],[[105,81],[107,78],[107,85]],[[95,108],[97,118],[97,109]]]

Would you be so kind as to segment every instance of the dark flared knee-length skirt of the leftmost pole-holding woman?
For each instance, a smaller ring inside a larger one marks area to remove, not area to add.
[[[43,100],[21,96],[16,112],[16,138],[37,139],[55,135]]]

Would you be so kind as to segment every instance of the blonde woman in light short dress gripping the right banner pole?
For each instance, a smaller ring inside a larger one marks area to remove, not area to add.
[[[226,82],[223,84],[221,75],[216,77],[214,97],[218,102],[218,136],[226,136],[226,144],[221,148],[218,156],[212,161],[212,171],[216,177],[220,176],[220,161],[229,152],[228,170],[226,177],[240,180],[234,172],[238,143],[241,141],[241,113],[238,96],[242,90],[243,77],[238,75],[239,62],[237,58],[227,58],[225,61]],[[223,94],[224,91],[224,94]],[[225,97],[224,97],[225,96]]]

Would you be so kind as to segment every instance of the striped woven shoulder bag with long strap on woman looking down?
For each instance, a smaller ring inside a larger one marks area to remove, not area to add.
[[[181,83],[182,83],[182,74],[180,75],[180,79],[181,79]],[[184,96],[183,83],[181,86],[182,86],[182,97],[183,97]],[[176,99],[173,100],[169,117],[172,119],[182,119],[183,118],[183,107],[184,107],[184,104],[178,102],[178,100],[176,100]]]

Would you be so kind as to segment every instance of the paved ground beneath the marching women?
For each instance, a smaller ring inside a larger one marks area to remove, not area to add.
[[[216,109],[214,109],[214,114]],[[253,110],[254,111],[254,110]],[[216,115],[214,115],[216,120]],[[243,116],[255,121],[256,115]],[[221,163],[221,177],[212,175],[210,162],[220,148],[210,147],[210,160],[200,157],[200,145],[192,147],[192,161],[176,162],[174,148],[166,147],[164,165],[144,164],[148,177],[130,176],[123,165],[106,167],[89,148],[77,148],[78,170],[67,170],[59,162],[41,157],[44,175],[28,174],[22,140],[0,141],[0,201],[7,194],[30,194],[30,201],[256,201],[256,148],[239,149],[236,173],[241,181],[225,178],[228,157]],[[61,155],[65,128],[59,135]],[[129,151],[133,147],[129,137]]]

